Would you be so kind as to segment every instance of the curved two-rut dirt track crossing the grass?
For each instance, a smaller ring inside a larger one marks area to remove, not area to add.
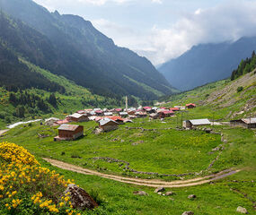
[[[49,162],[52,166],[55,166],[57,168],[66,169],[69,171],[81,173],[84,175],[91,175],[91,176],[101,176],[104,178],[108,178],[111,180],[115,180],[122,183],[127,183],[131,185],[144,185],[144,186],[150,186],[150,187],[185,187],[185,186],[193,186],[193,185],[203,185],[207,184],[209,182],[224,178],[226,176],[232,176],[235,173],[240,172],[241,170],[233,170],[233,169],[226,169],[222,172],[210,175],[210,176],[204,176],[204,177],[197,177],[189,180],[179,180],[179,181],[172,181],[172,182],[165,182],[161,180],[150,180],[150,179],[140,179],[140,178],[132,178],[132,177],[123,177],[123,176],[114,176],[114,175],[108,175],[103,174],[97,171],[93,171],[91,169],[87,168],[81,168],[72,164],[68,164],[63,161],[59,161],[57,159],[44,159],[47,162]]]

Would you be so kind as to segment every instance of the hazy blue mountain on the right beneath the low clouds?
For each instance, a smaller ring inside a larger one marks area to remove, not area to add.
[[[203,44],[192,47],[182,56],[163,64],[158,71],[173,87],[191,90],[229,77],[243,58],[256,49],[256,37],[234,43]]]

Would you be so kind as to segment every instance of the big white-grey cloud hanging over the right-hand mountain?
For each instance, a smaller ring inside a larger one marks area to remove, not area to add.
[[[142,53],[154,64],[162,64],[181,56],[200,43],[235,41],[242,37],[256,36],[256,2],[229,1],[210,9],[198,9],[186,14],[172,25],[161,29],[154,26],[147,47]]]

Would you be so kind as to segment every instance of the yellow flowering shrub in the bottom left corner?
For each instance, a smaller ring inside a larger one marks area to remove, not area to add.
[[[63,195],[71,183],[21,146],[0,143],[0,214],[79,214]]]

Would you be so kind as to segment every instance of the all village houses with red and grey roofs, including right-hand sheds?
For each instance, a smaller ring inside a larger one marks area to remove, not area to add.
[[[189,109],[196,108],[197,105],[190,103],[185,106],[174,107],[127,107],[127,108],[92,108],[78,110],[72,115],[68,115],[65,119],[50,117],[45,120],[45,125],[58,126],[58,135],[54,137],[54,141],[73,141],[84,135],[83,125],[74,125],[74,123],[94,121],[98,126],[95,127],[93,133],[105,133],[118,129],[119,125],[133,123],[136,118],[149,118],[149,121],[160,119],[162,123],[165,118],[174,117],[176,113],[186,113]],[[73,124],[70,124],[73,123]],[[243,128],[256,128],[256,118],[242,118],[232,120],[228,123],[230,126],[240,126]],[[221,123],[212,121],[207,118],[188,119],[182,121],[182,129],[196,129],[201,125],[222,125]]]

